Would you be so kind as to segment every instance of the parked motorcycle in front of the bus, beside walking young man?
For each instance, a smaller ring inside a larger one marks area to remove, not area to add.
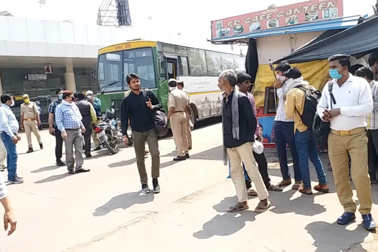
[[[99,118],[100,123],[94,126],[100,145],[106,147],[111,154],[118,153],[118,145],[122,143],[123,138],[119,120],[115,120],[114,115],[114,102],[112,102],[110,109],[107,109],[104,115]],[[132,144],[132,137],[129,139],[129,143]]]

